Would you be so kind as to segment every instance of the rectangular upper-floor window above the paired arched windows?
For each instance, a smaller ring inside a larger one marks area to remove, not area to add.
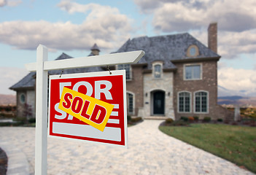
[[[201,79],[201,64],[186,65],[185,79]]]

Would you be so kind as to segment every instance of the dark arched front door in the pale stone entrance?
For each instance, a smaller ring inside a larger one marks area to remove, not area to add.
[[[164,114],[165,93],[163,91],[157,91],[154,93],[153,98],[153,113]]]

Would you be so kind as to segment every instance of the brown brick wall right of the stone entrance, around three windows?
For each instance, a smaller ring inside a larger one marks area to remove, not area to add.
[[[202,79],[201,80],[184,80],[183,69],[187,63],[175,63],[177,71],[174,74],[174,114],[175,119],[179,120],[180,117],[198,116],[200,119],[203,117],[212,117],[212,120],[224,118],[226,113],[220,110],[217,105],[217,61],[201,61],[193,62],[201,63],[202,65]],[[178,113],[178,92],[189,91],[191,93],[191,113]],[[194,93],[198,90],[206,90],[209,92],[209,113],[198,114],[194,112]]]

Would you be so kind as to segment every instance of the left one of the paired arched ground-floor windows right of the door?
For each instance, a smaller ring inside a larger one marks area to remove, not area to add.
[[[190,112],[190,98],[191,94],[187,92],[179,93],[179,112]]]

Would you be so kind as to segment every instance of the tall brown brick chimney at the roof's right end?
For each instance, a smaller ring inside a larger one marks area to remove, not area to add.
[[[210,23],[208,27],[208,47],[217,53],[217,23]]]

